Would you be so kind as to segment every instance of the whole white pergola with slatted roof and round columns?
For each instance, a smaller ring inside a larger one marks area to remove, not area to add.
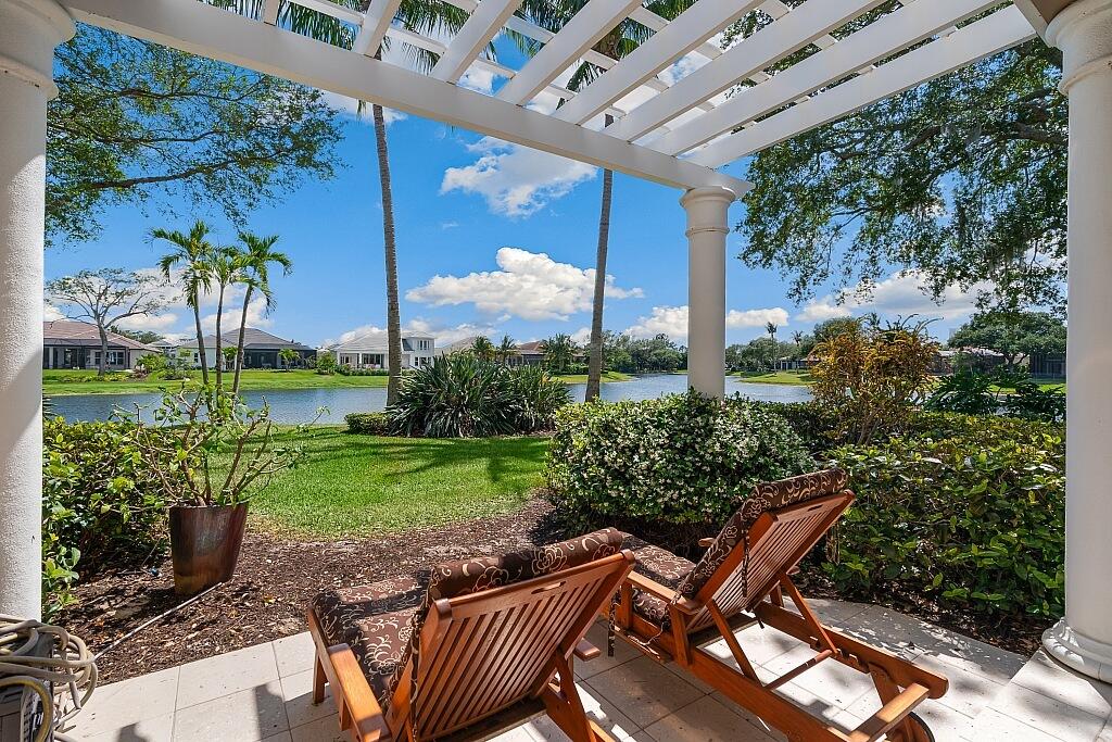
[[[287,1],[350,24],[354,48],[282,29]],[[718,168],[1039,33],[1063,50],[1070,96],[1068,612],[1046,644],[1112,680],[1112,0],[901,0],[848,34],[883,0],[699,0],[671,22],[592,0],[557,33],[516,16],[520,0],[447,1],[469,13],[449,39],[401,27],[400,0],[262,0],[259,18],[200,0],[0,0],[0,613],[39,612],[46,105],[75,20],[684,190],[689,380],[719,396],[727,211],[749,184]],[[753,10],[773,21],[726,51],[709,41]],[[622,60],[593,49],[626,18],[653,36]],[[542,44],[520,69],[484,56],[506,30]],[[439,61],[424,75],[376,59],[387,37]],[[661,72],[688,53],[705,63],[669,86]],[[580,61],[605,72],[575,93],[558,80]],[[470,69],[505,81],[469,89]],[[545,93],[565,105],[535,105]]]

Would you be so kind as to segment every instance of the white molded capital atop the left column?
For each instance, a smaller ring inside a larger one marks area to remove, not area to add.
[[[73,19],[56,0],[0,2],[0,75],[56,97],[54,47],[71,39],[75,31]]]

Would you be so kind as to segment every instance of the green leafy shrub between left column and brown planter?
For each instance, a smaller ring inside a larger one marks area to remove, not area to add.
[[[130,425],[49,418],[42,439],[42,607],[49,616],[72,601],[79,564],[89,575],[162,552],[166,495]]]

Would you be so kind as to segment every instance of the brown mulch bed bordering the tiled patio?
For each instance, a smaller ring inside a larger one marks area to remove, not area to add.
[[[563,535],[552,506],[539,498],[502,517],[358,541],[304,542],[251,530],[235,578],[109,650],[98,661],[101,680],[116,682],[306,631],[309,600],[325,587],[365,584],[447,560],[546,544]],[[808,595],[841,597],[814,572],[805,572],[800,582]],[[173,593],[169,561],[80,584],[77,598],[58,623],[85,639],[95,653],[183,602]],[[1039,647],[1046,627],[1022,620],[989,625],[983,616],[910,596],[893,596],[884,604],[1024,655]]]

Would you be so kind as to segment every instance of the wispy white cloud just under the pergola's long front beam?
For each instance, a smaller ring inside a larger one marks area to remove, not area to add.
[[[484,137],[468,147],[479,158],[444,171],[440,192],[481,196],[494,214],[527,217],[595,177],[592,165]]]

